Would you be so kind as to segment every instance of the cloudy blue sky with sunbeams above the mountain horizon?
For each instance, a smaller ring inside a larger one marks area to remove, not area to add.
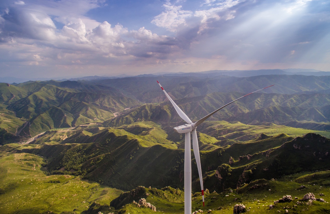
[[[329,0],[1,0],[0,77],[330,71]]]

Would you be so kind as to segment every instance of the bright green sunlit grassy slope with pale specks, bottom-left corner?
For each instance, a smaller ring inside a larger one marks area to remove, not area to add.
[[[46,176],[41,171],[42,158],[32,154],[2,156],[0,163],[2,213],[35,214],[47,210],[81,213],[93,201],[108,204],[121,192],[72,175]]]

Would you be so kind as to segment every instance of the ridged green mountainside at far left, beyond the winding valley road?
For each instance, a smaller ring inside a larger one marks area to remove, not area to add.
[[[7,118],[1,120],[1,144],[53,128],[103,121],[139,104],[111,87],[53,80],[1,84],[0,101],[0,113]]]

